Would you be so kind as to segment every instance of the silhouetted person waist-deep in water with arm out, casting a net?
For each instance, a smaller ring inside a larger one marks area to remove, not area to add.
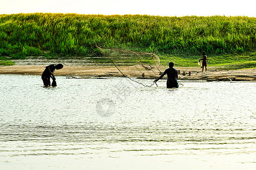
[[[159,79],[161,79],[165,74],[167,74],[167,82],[166,87],[167,88],[178,88],[178,70],[174,69],[174,63],[169,63],[169,69],[166,69],[165,72],[160,76],[160,78],[154,80],[154,82],[157,82]]]

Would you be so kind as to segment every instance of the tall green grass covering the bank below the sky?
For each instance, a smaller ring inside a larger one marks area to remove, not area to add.
[[[0,15],[0,56],[98,56],[95,45],[193,56],[256,49],[246,16]]]

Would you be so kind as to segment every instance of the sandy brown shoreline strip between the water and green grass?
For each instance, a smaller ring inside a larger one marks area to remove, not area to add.
[[[125,75],[133,78],[156,79],[159,71],[152,69],[146,71],[140,65],[137,66],[102,66],[97,63],[87,63],[79,59],[18,59],[14,60],[15,65],[0,66],[0,74],[22,74],[22,75],[41,75],[45,66],[51,63],[62,63],[64,68],[54,71],[54,75],[67,76],[69,78],[93,78],[93,77],[122,77]],[[164,71],[165,68],[161,68]],[[244,70],[215,70],[215,67],[208,67],[202,73],[200,67],[175,67],[179,70],[179,80],[206,80],[206,81],[256,81],[256,68]],[[191,71],[191,76],[188,72]],[[144,77],[142,74],[144,73]],[[182,75],[185,74],[185,75]],[[166,76],[163,77],[163,79]]]

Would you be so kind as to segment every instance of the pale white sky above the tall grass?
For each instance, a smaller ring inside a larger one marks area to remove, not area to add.
[[[255,0],[0,0],[0,14],[52,12],[256,17],[255,4]]]

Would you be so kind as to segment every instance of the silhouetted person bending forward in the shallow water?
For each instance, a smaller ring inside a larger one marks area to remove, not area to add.
[[[61,63],[58,63],[57,65],[52,64],[45,67],[45,70],[41,76],[44,83],[44,87],[51,86],[50,78],[52,78],[52,87],[57,86],[56,78],[54,77],[53,72],[55,71],[55,69],[60,70],[62,68],[63,68],[63,65]]]

